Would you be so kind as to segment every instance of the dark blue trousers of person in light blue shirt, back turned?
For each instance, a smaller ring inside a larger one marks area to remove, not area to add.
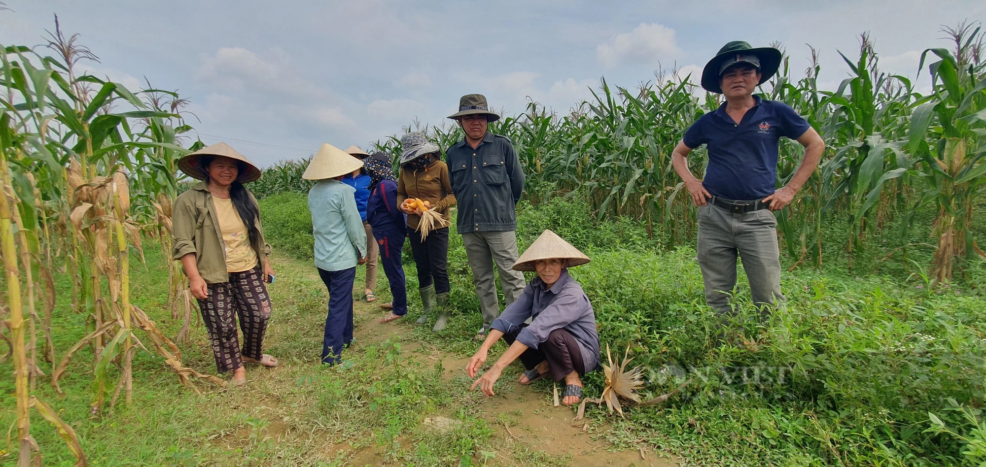
[[[328,289],[328,315],[325,316],[321,363],[335,365],[342,356],[342,348],[353,341],[353,282],[356,280],[356,267],[341,271],[317,269],[321,282]]]

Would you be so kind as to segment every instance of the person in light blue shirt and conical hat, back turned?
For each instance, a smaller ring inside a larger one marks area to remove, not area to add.
[[[335,365],[353,340],[353,282],[356,265],[366,262],[367,236],[356,207],[355,189],[342,176],[363,162],[329,144],[322,144],[302,178],[318,180],[309,190],[315,265],[328,289],[328,314],[321,363]]]

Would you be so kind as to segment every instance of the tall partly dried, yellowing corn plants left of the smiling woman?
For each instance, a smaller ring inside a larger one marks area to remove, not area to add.
[[[182,384],[197,391],[190,377],[199,377],[224,385],[184,367],[176,345],[130,301],[131,248],[143,254],[142,232],[170,237],[166,206],[176,194],[175,161],[187,153],[176,144],[176,135],[189,129],[177,114],[181,100],[165,93],[174,99],[171,108],[162,108],[162,100],[152,95],[164,92],[134,94],[116,83],[77,76],[77,62],[96,57],[75,40],[65,37],[56,22],[48,45],[58,58],[24,46],[0,46],[5,91],[0,95],[0,239],[6,293],[0,306],[10,316],[23,466],[33,457],[31,407],[56,426],[78,465],[86,464],[71,427],[31,394],[45,375],[35,358],[38,324],[44,332],[42,355],[59,393],[58,380],[73,354],[92,348],[94,413],[105,409],[107,395],[110,407],[121,392],[131,400],[131,365],[136,350],[145,347],[138,340],[144,336]],[[114,111],[116,105],[132,109]],[[63,264],[53,264],[51,250],[54,258],[65,258]],[[51,278],[59,266],[74,278],[76,310],[89,317],[89,328],[55,365]],[[43,286],[35,287],[35,280]],[[41,303],[43,319],[36,312]]]

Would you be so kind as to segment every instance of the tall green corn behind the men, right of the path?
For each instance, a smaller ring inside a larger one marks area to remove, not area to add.
[[[955,265],[971,256],[986,256],[970,231],[986,180],[984,35],[964,24],[944,33],[952,48],[929,48],[922,55],[921,77],[930,77],[933,88],[928,95],[915,91],[906,77],[880,72],[867,34],[855,59],[842,55],[851,76],[837,90],[817,88],[814,49],[803,78],[793,78],[785,55],[781,70],[761,89],[765,99],[783,101],[805,116],[827,148],[795,202],[778,215],[784,248],[798,258],[796,266],[821,268],[823,246],[830,244],[848,253],[852,268],[854,252],[866,248],[868,236],[890,218],[901,220],[896,225],[903,261],[909,248],[934,248],[937,282],[950,281]],[[631,90],[603,80],[593,100],[567,115],[529,102],[523,114],[506,116],[490,129],[514,141],[528,176],[528,200],[582,190],[600,217],[638,219],[652,235],[664,235],[665,244],[680,244],[694,238],[696,226],[689,197],[679,196],[683,184],[671,167],[671,150],[692,122],[721,103],[696,81],[666,72]],[[462,138],[456,126],[425,130],[442,148]],[[398,154],[398,143],[391,137],[375,149]],[[802,154],[797,142],[782,141],[778,186],[794,175]],[[704,150],[693,151],[689,164],[701,174]],[[912,243],[908,229],[922,208],[938,213],[934,238]],[[846,237],[824,237],[823,226],[832,222],[847,225]]]

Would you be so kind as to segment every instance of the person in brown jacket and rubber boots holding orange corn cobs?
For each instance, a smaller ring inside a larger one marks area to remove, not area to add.
[[[433,331],[445,329],[449,322],[449,209],[456,205],[452,193],[449,167],[441,159],[438,145],[431,143],[420,131],[408,133],[400,139],[403,154],[400,157],[400,178],[397,180],[397,203],[407,213],[408,236],[411,252],[418,269],[418,293],[424,313],[417,320],[422,325],[428,315],[439,308]],[[424,208],[416,200],[421,200]],[[435,226],[425,239],[421,239],[421,213],[437,211],[445,219],[445,226]]]

